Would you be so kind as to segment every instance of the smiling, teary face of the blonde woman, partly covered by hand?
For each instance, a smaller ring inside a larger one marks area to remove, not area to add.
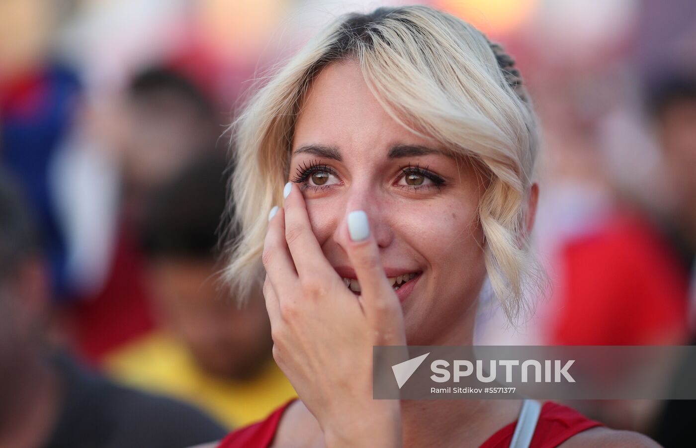
[[[406,275],[406,283],[397,279],[397,296],[409,344],[470,342],[485,276],[481,179],[390,118],[356,63],[329,65],[309,89],[290,180],[299,183],[313,232],[344,279],[356,278],[344,221],[350,211],[367,212],[386,275]]]

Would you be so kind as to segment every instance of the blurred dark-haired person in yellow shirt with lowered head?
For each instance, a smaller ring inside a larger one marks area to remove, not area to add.
[[[229,427],[295,396],[276,366],[264,301],[239,309],[216,273],[226,207],[223,157],[194,161],[154,195],[143,249],[160,330],[106,358],[120,381],[187,399]]]

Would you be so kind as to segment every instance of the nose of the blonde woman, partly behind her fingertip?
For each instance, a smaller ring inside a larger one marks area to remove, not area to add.
[[[377,241],[380,249],[388,247],[394,234],[389,222],[389,210],[386,198],[383,195],[370,189],[368,186],[358,186],[353,184],[347,191],[345,210],[343,216],[333,232],[333,240],[344,250],[350,241],[347,230],[348,214],[351,211],[363,210],[367,214],[367,221],[370,223],[370,233]]]

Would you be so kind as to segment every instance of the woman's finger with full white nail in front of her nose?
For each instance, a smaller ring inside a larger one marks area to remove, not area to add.
[[[346,251],[360,282],[365,313],[378,317],[384,312],[393,312],[395,307],[400,309],[399,300],[384,273],[365,211],[356,210],[348,214],[347,232],[350,242]]]

